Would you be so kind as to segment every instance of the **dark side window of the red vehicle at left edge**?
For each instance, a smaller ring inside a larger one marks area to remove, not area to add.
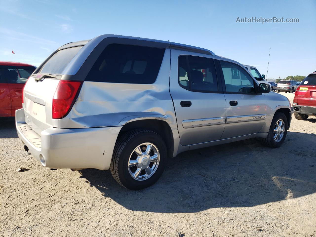
[[[32,66],[3,66],[0,68],[2,80],[7,83],[25,83],[35,67]]]

